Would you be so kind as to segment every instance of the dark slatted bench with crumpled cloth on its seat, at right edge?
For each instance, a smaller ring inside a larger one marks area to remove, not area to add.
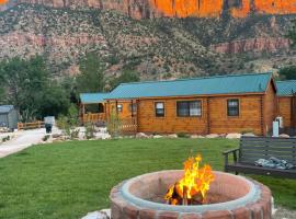
[[[296,165],[296,138],[241,137],[238,149],[225,151],[223,154],[225,155],[225,172],[296,178],[296,168],[278,170],[254,164],[259,159],[275,157]],[[229,154],[232,154],[234,162],[231,163]]]

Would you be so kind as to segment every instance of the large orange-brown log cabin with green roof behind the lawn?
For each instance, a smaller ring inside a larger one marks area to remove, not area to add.
[[[135,131],[149,134],[266,135],[277,115],[272,73],[122,83],[106,97]]]

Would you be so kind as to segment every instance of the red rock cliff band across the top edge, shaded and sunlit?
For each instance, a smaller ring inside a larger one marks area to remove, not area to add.
[[[55,8],[92,7],[111,9],[135,19],[160,16],[216,18],[224,10],[229,10],[235,18],[246,18],[251,12],[264,14],[296,13],[296,0],[16,0],[16,3],[21,2]]]

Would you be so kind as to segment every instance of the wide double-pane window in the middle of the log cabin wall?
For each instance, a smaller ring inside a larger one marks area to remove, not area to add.
[[[180,117],[202,116],[202,101],[177,102],[177,115]]]

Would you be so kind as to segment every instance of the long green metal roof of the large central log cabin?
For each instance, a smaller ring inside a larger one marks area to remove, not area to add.
[[[262,93],[272,73],[229,74],[174,81],[122,83],[106,99]]]

